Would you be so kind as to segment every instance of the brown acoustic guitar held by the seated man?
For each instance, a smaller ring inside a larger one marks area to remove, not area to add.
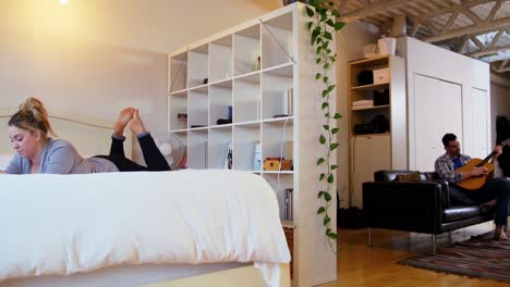
[[[510,145],[510,139],[503,140],[500,144],[501,147],[505,147],[507,145]],[[457,169],[456,173],[460,173],[460,172],[469,172],[473,170],[473,167],[475,166],[476,167],[484,166],[488,170],[488,173],[483,174],[481,176],[473,176],[473,177],[466,178],[460,183],[457,183],[456,185],[467,190],[476,190],[478,188],[482,188],[489,179],[489,176],[494,173],[494,164],[490,163],[489,161],[495,154],[496,154],[496,151],[493,151],[490,152],[489,155],[487,155],[487,158],[483,160],[472,159],[464,166]]]

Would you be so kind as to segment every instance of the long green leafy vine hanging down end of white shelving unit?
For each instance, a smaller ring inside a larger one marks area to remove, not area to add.
[[[318,177],[320,183],[325,184],[325,189],[318,191],[318,200],[320,207],[317,214],[323,217],[325,227],[325,236],[328,240],[331,251],[337,254],[337,233],[331,229],[331,217],[329,216],[329,208],[331,205],[331,194],[329,190],[335,184],[333,171],[338,165],[331,164],[332,152],[340,144],[336,142],[335,135],[339,132],[337,122],[341,118],[339,113],[331,114],[330,98],[335,97],[336,85],[331,84],[328,72],[335,68],[337,54],[330,49],[329,43],[332,41],[332,33],[340,30],[345,23],[338,21],[340,12],[338,7],[332,1],[327,0],[309,0],[306,5],[306,14],[312,21],[306,23],[306,28],[311,35],[311,45],[316,51],[315,62],[320,67],[321,72],[315,75],[315,79],[323,85],[323,101],[321,109],[324,112],[324,122],[319,142],[324,146],[324,157],[317,160],[317,165],[326,165],[326,173],[321,173]]]

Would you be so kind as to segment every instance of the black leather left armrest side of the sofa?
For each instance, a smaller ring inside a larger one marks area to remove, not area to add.
[[[364,183],[363,212],[368,227],[438,234],[445,191],[441,183]]]

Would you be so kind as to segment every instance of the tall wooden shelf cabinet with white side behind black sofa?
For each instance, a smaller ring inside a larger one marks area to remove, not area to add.
[[[373,83],[366,83],[367,73]],[[373,180],[375,171],[406,167],[404,60],[384,55],[350,62],[348,105],[349,205],[362,208],[362,184]]]

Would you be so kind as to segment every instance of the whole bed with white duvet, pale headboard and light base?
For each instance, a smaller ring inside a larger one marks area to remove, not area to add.
[[[76,118],[50,122],[106,153],[109,125]],[[290,286],[276,195],[248,172],[2,175],[0,202],[0,286]]]

